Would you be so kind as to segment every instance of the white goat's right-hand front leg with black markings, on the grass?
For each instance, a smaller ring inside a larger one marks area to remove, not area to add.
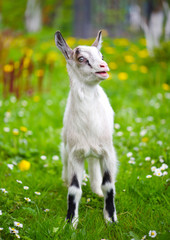
[[[106,223],[117,222],[116,206],[115,206],[115,178],[117,170],[117,158],[113,149],[112,153],[106,154],[101,160],[103,172],[102,191],[104,194],[103,214]]]

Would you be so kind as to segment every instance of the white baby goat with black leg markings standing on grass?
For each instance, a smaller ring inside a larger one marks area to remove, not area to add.
[[[77,226],[84,159],[88,158],[91,188],[100,196],[104,194],[106,222],[115,222],[114,112],[99,86],[100,81],[108,78],[109,71],[100,52],[101,31],[92,46],[78,46],[72,50],[59,31],[55,33],[55,43],[66,58],[71,88],[64,114],[61,149],[62,177],[69,186],[66,219]]]

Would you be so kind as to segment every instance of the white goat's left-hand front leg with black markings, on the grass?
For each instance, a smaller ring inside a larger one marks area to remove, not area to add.
[[[77,154],[70,154],[68,159],[68,210],[66,220],[76,228],[78,224],[78,207],[82,195],[81,183],[83,177],[84,164],[82,159],[76,157]]]

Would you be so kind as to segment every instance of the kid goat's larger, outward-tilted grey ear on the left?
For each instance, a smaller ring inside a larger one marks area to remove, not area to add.
[[[55,44],[65,56],[66,60],[71,59],[73,50],[67,45],[59,31],[55,33]]]

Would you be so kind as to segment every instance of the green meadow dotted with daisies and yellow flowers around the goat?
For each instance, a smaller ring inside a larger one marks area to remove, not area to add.
[[[61,179],[65,59],[54,33],[0,39],[0,239],[170,239],[170,44],[149,56],[143,38],[103,37],[110,77],[101,86],[115,111],[119,159],[118,223],[105,224],[103,199],[92,193],[86,173],[74,230],[65,225],[67,188]],[[67,41],[74,47],[93,39]]]

